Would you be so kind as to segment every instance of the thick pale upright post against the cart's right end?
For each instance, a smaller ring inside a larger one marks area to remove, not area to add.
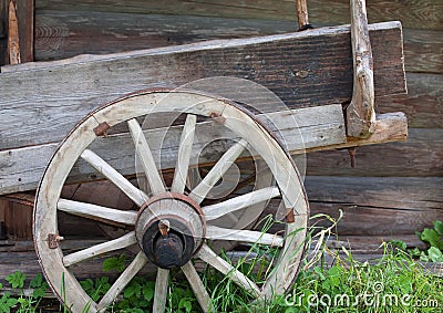
[[[351,0],[353,93],[347,108],[348,136],[365,138],[375,122],[372,50],[364,0]]]

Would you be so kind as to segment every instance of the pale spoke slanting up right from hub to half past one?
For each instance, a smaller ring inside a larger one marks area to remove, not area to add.
[[[233,163],[240,156],[247,144],[248,143],[245,139],[241,139],[231,146],[214,165],[205,178],[203,178],[200,184],[193,189],[193,191],[189,194],[189,197],[197,204],[200,204],[214,185],[217,184],[217,181],[223,177],[223,175],[225,175]]]

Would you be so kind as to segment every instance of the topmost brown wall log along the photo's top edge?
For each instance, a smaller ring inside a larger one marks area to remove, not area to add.
[[[206,17],[225,17],[239,19],[264,19],[296,21],[296,0],[244,0],[244,1],[179,1],[172,0],[158,2],[154,0],[122,1],[106,0],[39,0],[37,8],[41,10],[62,11],[107,11],[107,12],[137,12],[137,13],[167,13],[189,14]],[[342,0],[309,0],[310,22],[328,22],[341,24],[349,22],[349,2]],[[439,0],[372,0],[368,6],[370,21],[380,22],[388,20],[401,20],[406,28],[442,30],[443,3]]]

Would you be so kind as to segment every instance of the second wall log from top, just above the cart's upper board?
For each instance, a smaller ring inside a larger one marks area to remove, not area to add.
[[[370,10],[370,8],[368,9]],[[115,21],[119,21],[117,23]],[[317,21],[317,28],[321,27]],[[349,23],[349,17],[341,23]],[[38,11],[35,60],[104,54],[295,31],[293,22],[120,12]],[[441,31],[404,29],[405,69],[443,72]]]

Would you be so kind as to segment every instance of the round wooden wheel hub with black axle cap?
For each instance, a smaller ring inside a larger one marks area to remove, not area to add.
[[[184,265],[198,251],[206,233],[200,207],[181,194],[162,194],[138,212],[135,234],[151,262],[162,269]]]

